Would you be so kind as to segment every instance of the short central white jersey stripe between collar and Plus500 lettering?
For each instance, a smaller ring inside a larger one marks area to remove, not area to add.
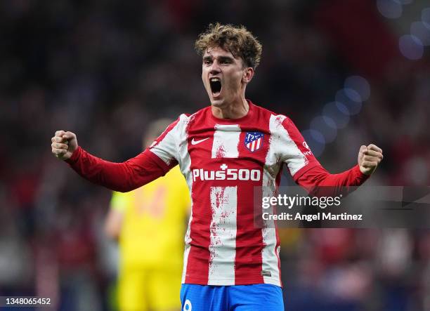
[[[214,143],[212,144],[212,159],[239,157],[240,127],[237,124],[216,124]]]

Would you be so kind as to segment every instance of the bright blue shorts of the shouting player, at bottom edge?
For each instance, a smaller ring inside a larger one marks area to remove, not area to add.
[[[272,284],[182,284],[183,311],[284,311],[282,289]]]

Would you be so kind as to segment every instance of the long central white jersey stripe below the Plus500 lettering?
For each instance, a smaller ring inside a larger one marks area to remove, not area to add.
[[[208,285],[235,284],[237,187],[211,187]]]

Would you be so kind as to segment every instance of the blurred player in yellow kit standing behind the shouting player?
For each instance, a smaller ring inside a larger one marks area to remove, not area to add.
[[[150,124],[143,147],[169,124],[169,119]],[[120,311],[181,309],[181,232],[189,207],[188,187],[178,166],[136,190],[113,193],[105,231],[119,241]]]

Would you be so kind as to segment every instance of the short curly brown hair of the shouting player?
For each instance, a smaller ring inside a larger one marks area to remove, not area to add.
[[[247,67],[256,68],[261,59],[263,46],[245,26],[209,24],[195,41],[195,51],[203,55],[207,48],[219,46],[230,51],[235,58],[240,57]]]

